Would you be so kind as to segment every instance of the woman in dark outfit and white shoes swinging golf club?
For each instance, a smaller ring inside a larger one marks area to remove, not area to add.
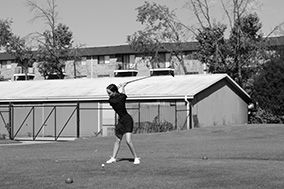
[[[106,91],[109,95],[109,104],[112,106],[114,111],[118,114],[119,119],[118,123],[115,126],[115,136],[116,141],[113,147],[113,154],[111,158],[106,161],[106,163],[114,163],[116,162],[116,156],[120,148],[120,143],[123,135],[126,136],[126,143],[134,156],[134,164],[140,164],[140,158],[137,157],[136,151],[134,149],[134,145],[131,140],[131,135],[133,131],[133,119],[131,115],[128,114],[125,108],[126,102],[126,94],[125,94],[125,86],[128,83],[119,84],[117,87],[115,84],[110,84]],[[118,91],[118,88],[121,87],[121,92]]]

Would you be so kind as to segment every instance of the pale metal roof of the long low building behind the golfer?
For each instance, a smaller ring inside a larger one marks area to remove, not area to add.
[[[34,80],[0,82],[0,102],[13,101],[66,101],[66,100],[107,100],[106,87],[138,77],[111,77],[95,79]],[[129,99],[183,99],[193,98],[202,90],[227,79],[249,99],[226,74],[152,76],[129,83],[126,93]]]

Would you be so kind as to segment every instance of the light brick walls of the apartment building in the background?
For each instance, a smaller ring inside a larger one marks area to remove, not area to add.
[[[150,75],[151,65],[149,61],[142,60],[141,57],[135,55],[129,55],[130,64],[135,64],[135,68],[138,73],[137,76],[147,76]],[[119,69],[119,64],[122,64],[121,60],[116,55],[104,56],[105,62],[103,64],[99,64],[98,56],[93,57],[83,57],[81,61],[74,63],[73,60],[67,61],[65,65],[65,73],[67,79],[74,78],[74,71],[76,70],[77,78],[97,78],[97,77],[114,77],[114,70]],[[167,53],[165,55],[166,62],[165,64],[171,66],[175,70],[176,75],[183,74],[203,74],[204,68],[203,64],[194,60],[192,56],[187,56],[184,64],[188,73],[185,73],[183,67],[178,62],[176,58],[170,58],[170,54]],[[74,69],[75,65],[75,69]],[[35,80],[44,79],[38,71],[38,63],[34,63],[33,65],[33,74],[35,74]],[[13,75],[16,73],[20,73],[19,67],[17,67],[16,63],[12,61],[2,61],[0,64],[0,74],[9,80],[13,80]]]

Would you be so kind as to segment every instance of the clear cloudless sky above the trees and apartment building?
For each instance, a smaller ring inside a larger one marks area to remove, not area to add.
[[[33,0],[42,7],[47,0]],[[184,8],[185,0],[147,0],[176,10],[178,19],[190,25],[196,23],[192,12]],[[224,18],[220,0],[209,0],[212,17]],[[224,0],[231,1],[231,0]],[[263,25],[262,32],[268,34],[275,26],[284,21],[284,0],[258,0],[255,6]],[[137,7],[145,0],[57,0],[58,22],[67,25],[73,33],[74,44],[89,47],[126,44],[128,35],[142,29],[136,21]],[[25,5],[26,0],[0,0],[0,19],[11,19],[12,32],[24,37],[29,33],[45,29],[41,21],[31,22],[33,13]],[[281,13],[282,12],[282,13]],[[283,34],[284,35],[284,34]]]

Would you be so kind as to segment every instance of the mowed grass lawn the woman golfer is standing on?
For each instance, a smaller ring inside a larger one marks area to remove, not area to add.
[[[113,142],[1,144],[0,188],[284,188],[284,125],[137,134],[140,165],[133,165],[124,140],[121,161],[102,168]]]

